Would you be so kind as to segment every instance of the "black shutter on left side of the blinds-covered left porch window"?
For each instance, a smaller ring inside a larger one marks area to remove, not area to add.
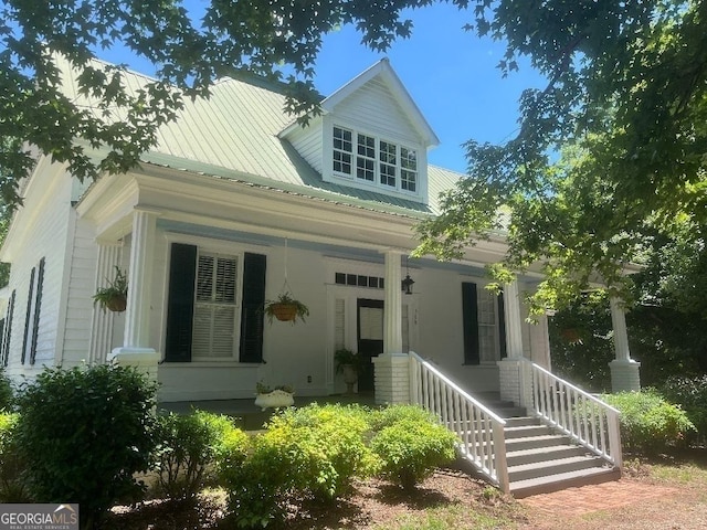
[[[172,243],[167,301],[165,361],[191,361],[191,333],[194,315],[197,247]]]

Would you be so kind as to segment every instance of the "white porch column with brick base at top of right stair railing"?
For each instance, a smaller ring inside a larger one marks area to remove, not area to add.
[[[530,406],[532,390],[525,378],[523,358],[523,317],[518,282],[504,285],[504,316],[506,319],[506,353],[498,361],[500,399],[517,406]]]

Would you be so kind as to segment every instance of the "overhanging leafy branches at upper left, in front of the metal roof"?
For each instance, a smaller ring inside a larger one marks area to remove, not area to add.
[[[252,72],[286,77],[287,109],[315,108],[314,64],[325,33],[355,24],[361,41],[386,50],[410,34],[404,8],[431,0],[211,0],[200,20],[184,0],[0,0],[0,180],[6,203],[33,166],[23,146],[66,162],[81,179],[130,169],[173,120],[186,97],[205,96],[214,78]],[[192,2],[193,3],[193,2]],[[455,0],[465,4],[464,0]],[[126,46],[156,66],[137,93],[123,84],[125,65],[92,63],[102,50]],[[62,91],[55,56],[80,71],[78,89],[96,102],[82,108]],[[116,119],[115,109],[125,116]],[[81,141],[78,141],[81,140]],[[102,149],[98,160],[92,149]],[[92,156],[94,158],[92,158]]]

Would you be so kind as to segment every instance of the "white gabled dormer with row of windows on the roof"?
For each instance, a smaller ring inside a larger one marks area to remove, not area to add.
[[[281,137],[331,182],[428,203],[428,149],[439,139],[383,59]]]

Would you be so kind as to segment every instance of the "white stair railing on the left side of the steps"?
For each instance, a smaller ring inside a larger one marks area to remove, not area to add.
[[[410,401],[456,433],[462,456],[500,490],[509,491],[506,422],[500,416],[414,352],[410,352]]]

